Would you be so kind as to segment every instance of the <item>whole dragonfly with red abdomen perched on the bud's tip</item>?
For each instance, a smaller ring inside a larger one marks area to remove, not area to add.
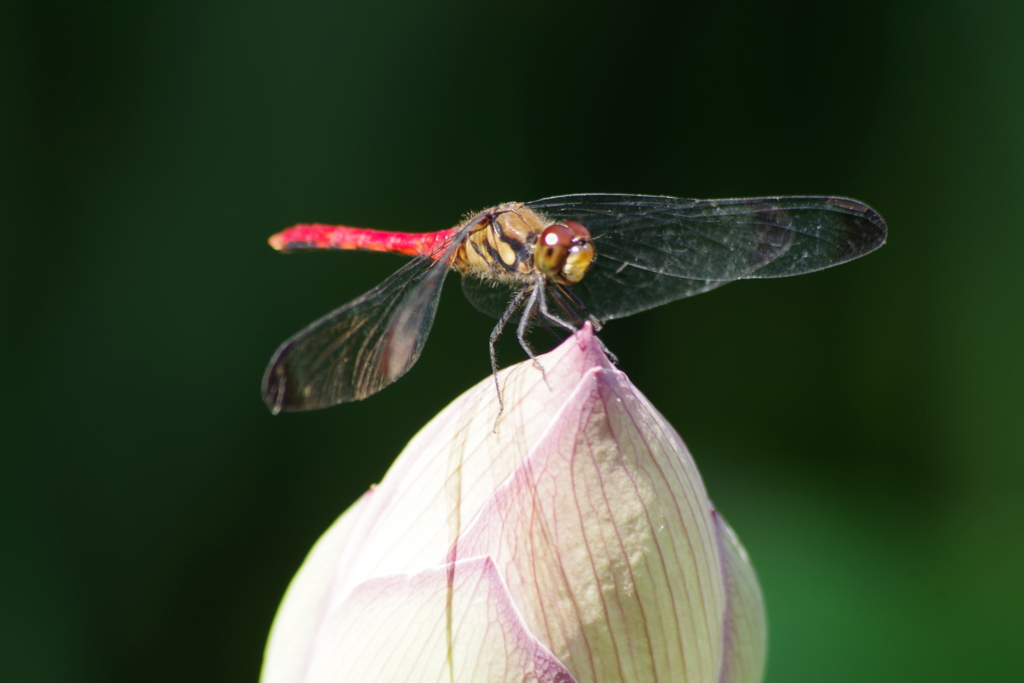
[[[414,257],[366,294],[287,339],[263,376],[273,414],[361,400],[419,359],[451,270],[478,310],[567,331],[713,290],[737,280],[820,270],[881,247],[870,207],[838,197],[692,200],[564,195],[499,204],[436,232],[300,224],[272,236],[282,252],[344,249]],[[501,389],[499,387],[499,396]]]

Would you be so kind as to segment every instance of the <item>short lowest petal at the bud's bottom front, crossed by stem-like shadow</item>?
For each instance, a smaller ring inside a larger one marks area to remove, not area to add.
[[[449,585],[446,567],[362,584],[327,614],[303,680],[573,682],[524,627],[489,559],[459,562]]]

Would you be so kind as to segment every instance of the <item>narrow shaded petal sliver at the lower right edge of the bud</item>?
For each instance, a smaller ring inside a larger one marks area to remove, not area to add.
[[[759,683],[764,677],[768,625],[758,578],[732,527],[715,512],[726,611],[720,683]]]

